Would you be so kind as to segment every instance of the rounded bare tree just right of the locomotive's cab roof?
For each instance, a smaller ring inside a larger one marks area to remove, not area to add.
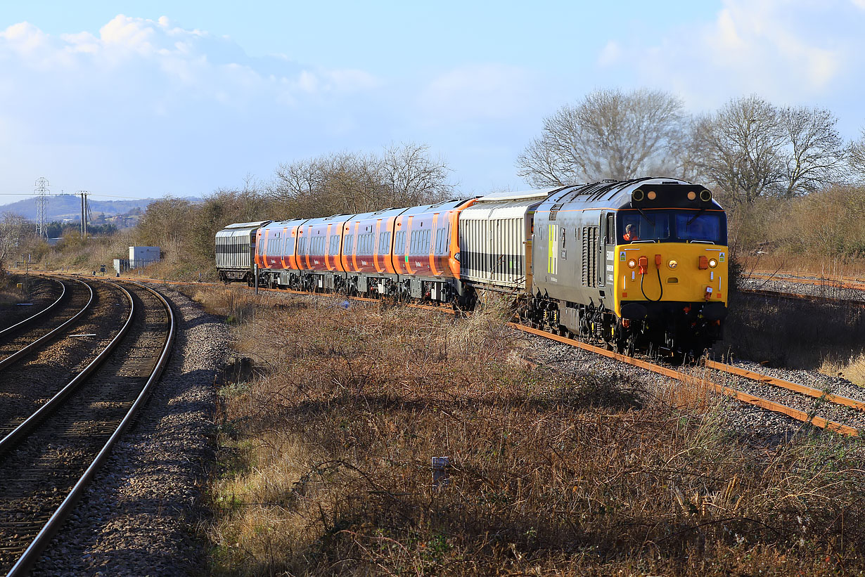
[[[785,178],[781,149],[787,136],[779,111],[757,96],[733,99],[697,119],[693,140],[702,151],[697,168],[734,202],[753,202]]]

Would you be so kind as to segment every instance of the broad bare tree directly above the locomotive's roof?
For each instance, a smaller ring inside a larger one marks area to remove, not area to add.
[[[686,125],[682,101],[670,93],[599,90],[544,119],[541,136],[517,158],[517,174],[535,186],[678,176]]]

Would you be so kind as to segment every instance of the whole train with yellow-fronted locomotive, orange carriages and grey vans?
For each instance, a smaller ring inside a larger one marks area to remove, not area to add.
[[[727,316],[727,217],[662,178],[601,181],[361,215],[242,222],[216,234],[226,282],[471,309],[513,298],[525,322],[633,354],[699,354]]]

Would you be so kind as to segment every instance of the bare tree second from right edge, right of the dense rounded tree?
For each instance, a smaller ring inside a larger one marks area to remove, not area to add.
[[[844,144],[835,130],[837,119],[821,108],[787,107],[779,114],[788,142],[783,196],[791,198],[837,183],[844,160]]]

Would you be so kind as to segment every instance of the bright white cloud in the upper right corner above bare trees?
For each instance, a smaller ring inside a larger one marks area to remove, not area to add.
[[[725,0],[714,22],[670,30],[648,49],[624,45],[616,62],[696,107],[746,93],[802,101],[836,91],[851,74],[862,77],[863,26],[849,0]],[[612,60],[612,44],[599,63]]]

